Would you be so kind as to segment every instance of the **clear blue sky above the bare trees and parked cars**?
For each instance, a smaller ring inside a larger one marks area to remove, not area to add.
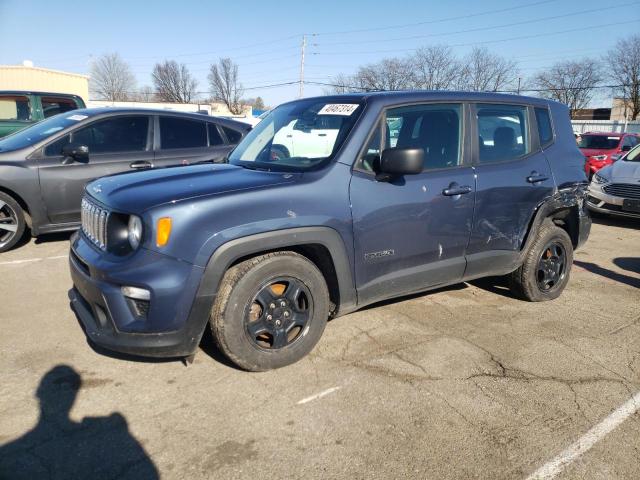
[[[174,59],[208,91],[209,65],[228,56],[245,96],[276,105],[296,98],[298,85],[261,87],[298,80],[304,33],[305,77],[331,83],[338,73],[430,44],[452,45],[459,55],[486,46],[517,61],[527,77],[557,61],[600,57],[638,26],[640,1],[631,0],[615,7],[602,0],[0,0],[0,64],[29,59],[88,73],[92,56],[118,52],[141,87],[152,85],[155,62]],[[305,94],[323,88],[306,85]],[[602,92],[596,103],[607,106],[607,97]]]

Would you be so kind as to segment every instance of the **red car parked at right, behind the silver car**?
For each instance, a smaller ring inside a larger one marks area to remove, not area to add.
[[[591,178],[639,143],[640,135],[635,133],[587,132],[580,136],[578,148],[586,157],[584,169]]]

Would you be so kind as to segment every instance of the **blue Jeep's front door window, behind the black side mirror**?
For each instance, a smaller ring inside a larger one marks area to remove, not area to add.
[[[461,118],[456,104],[393,108],[386,115],[385,148],[422,148],[426,170],[458,166]]]

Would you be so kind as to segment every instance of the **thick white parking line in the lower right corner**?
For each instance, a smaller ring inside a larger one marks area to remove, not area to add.
[[[636,393],[622,406],[614,410],[611,415],[572,443],[553,460],[529,475],[527,480],[549,480],[556,477],[567,465],[589,451],[598,441],[606,437],[638,410],[640,410],[640,392]]]

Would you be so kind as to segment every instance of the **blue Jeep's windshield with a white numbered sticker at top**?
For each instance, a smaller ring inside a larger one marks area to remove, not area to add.
[[[229,155],[229,163],[276,171],[310,170],[340,148],[360,103],[299,100],[272,110]]]

